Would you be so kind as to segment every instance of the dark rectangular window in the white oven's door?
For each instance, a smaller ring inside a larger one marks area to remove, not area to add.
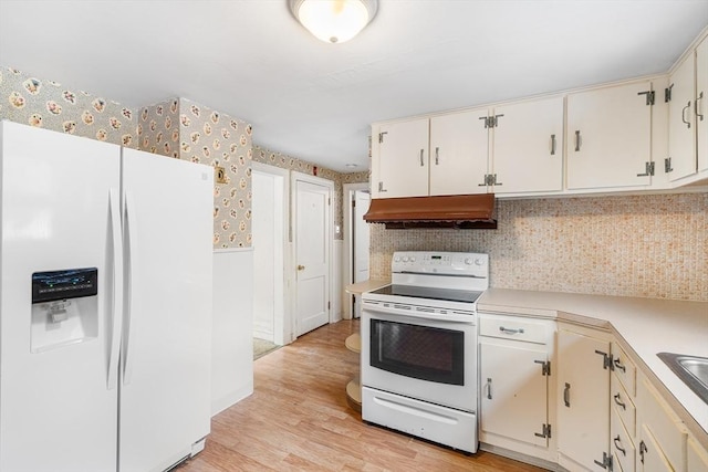
[[[465,333],[372,319],[371,365],[421,380],[465,385]]]

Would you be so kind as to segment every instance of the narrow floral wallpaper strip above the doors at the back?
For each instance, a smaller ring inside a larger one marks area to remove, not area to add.
[[[280,167],[282,169],[294,170],[302,174],[309,174],[311,176],[322,177],[323,179],[333,180],[334,224],[339,225],[340,228],[342,228],[342,221],[344,220],[342,209],[343,185],[368,181],[368,170],[363,172],[341,174],[335,170],[308,162],[306,160],[288,156],[285,154],[270,151],[258,145],[253,146],[253,160],[269,166]],[[342,231],[340,231],[339,234],[334,234],[334,239],[341,240],[343,238],[344,234]]]

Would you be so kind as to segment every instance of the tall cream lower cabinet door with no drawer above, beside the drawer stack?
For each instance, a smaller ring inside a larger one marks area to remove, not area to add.
[[[610,439],[610,343],[559,331],[559,452],[591,471],[604,471]]]

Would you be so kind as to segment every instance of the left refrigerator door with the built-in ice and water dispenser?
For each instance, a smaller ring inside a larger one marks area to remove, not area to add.
[[[121,149],[9,122],[0,129],[0,470],[115,471],[119,228],[110,193],[119,196]],[[44,289],[85,284],[85,295],[97,284],[97,294],[32,304],[33,274],[54,271],[65,276]]]

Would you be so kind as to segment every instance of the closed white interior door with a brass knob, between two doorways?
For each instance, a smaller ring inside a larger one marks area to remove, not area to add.
[[[331,181],[293,174],[295,335],[330,319]]]

